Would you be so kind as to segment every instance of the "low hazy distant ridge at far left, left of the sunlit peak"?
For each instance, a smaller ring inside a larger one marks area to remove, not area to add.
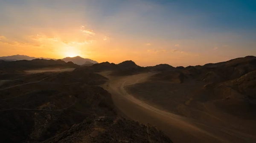
[[[36,57],[31,57],[31,56],[26,56],[26,55],[13,55],[13,56],[2,56],[0,57],[0,60],[4,61],[20,61],[20,60],[32,60],[32,59],[53,59],[53,58],[36,58]]]

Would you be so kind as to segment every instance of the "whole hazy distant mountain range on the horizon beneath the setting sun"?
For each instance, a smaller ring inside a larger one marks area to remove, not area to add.
[[[44,58],[44,57],[31,57],[31,56],[26,56],[26,55],[13,55],[13,56],[2,56],[0,57],[0,60],[3,61],[20,61],[20,60],[33,60],[33,59],[53,59],[53,58]],[[58,60],[58,59],[53,59],[53,60]],[[80,56],[76,56],[76,57],[66,57],[64,59],[61,59],[62,61],[65,62],[73,62],[74,64],[78,64],[78,65],[82,65],[82,64],[88,64],[88,62],[90,62],[90,64],[96,64],[98,62],[92,60],[92,59],[86,59],[86,58],[82,58]],[[86,63],[87,62],[87,63]]]

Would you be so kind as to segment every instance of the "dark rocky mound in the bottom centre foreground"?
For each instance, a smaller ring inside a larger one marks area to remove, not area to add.
[[[161,131],[124,118],[90,117],[44,143],[172,143]]]

